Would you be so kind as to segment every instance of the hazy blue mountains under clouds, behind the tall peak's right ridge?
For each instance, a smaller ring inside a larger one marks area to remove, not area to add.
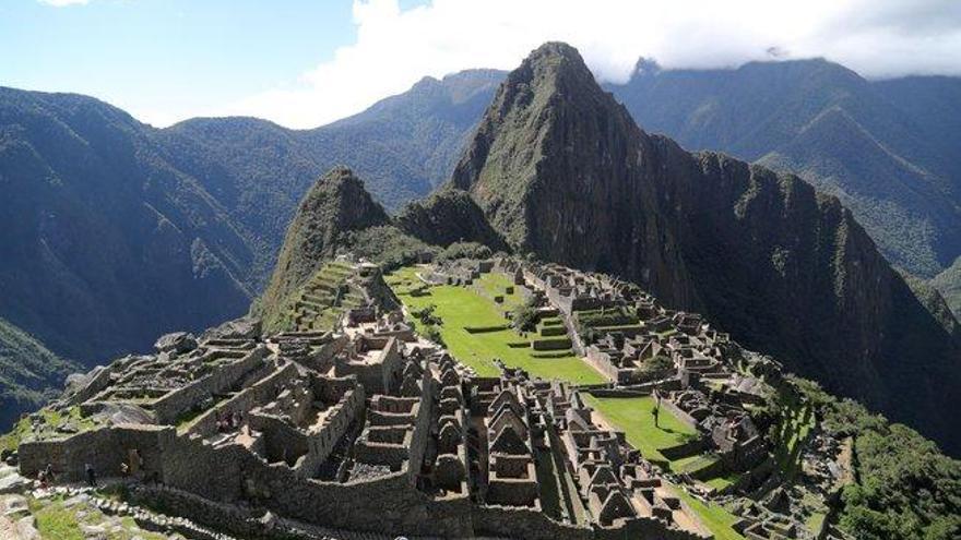
[[[958,107],[957,86],[950,77],[873,83],[824,60],[736,70],[641,61],[608,89],[644,129],[685,147],[804,175],[849,206],[892,263],[930,277],[961,253],[961,169],[948,149],[961,131],[940,120]]]

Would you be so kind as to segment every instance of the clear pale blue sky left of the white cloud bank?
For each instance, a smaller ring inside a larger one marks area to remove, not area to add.
[[[356,36],[349,0],[3,0],[0,85],[176,117],[295,79]]]

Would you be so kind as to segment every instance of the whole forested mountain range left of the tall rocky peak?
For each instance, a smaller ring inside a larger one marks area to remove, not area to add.
[[[351,163],[388,208],[451,169],[499,83],[476,70],[316,130],[157,130],[96,99],[0,89],[0,316],[93,363],[247,311],[308,187]]]

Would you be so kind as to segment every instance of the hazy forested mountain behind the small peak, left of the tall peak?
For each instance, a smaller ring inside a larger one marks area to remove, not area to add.
[[[320,175],[349,164],[390,211],[426,196],[448,178],[502,76],[468,70],[425,77],[404,94],[313,130],[214,118],[188,120],[155,136],[238,224],[254,251],[245,283],[259,290],[297,202]]]

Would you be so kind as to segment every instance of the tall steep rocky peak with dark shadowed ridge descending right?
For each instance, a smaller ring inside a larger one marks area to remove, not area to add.
[[[642,132],[562,44],[499,88],[452,184],[511,248],[643,284],[946,448],[957,344],[837,199]]]

